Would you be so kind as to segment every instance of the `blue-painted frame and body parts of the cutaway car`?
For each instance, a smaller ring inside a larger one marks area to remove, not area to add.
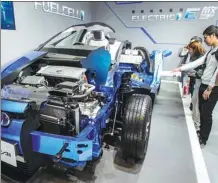
[[[9,74],[20,68],[26,67],[28,64],[45,54],[46,52],[40,51],[29,52],[5,67],[2,70],[1,76],[3,78],[7,77]],[[84,167],[87,161],[99,157],[102,151],[102,129],[106,128],[106,121],[110,117],[114,106],[118,104],[118,90],[121,86],[122,74],[130,72],[142,78],[142,80],[131,80],[132,82],[130,84],[133,88],[145,87],[149,92],[154,94],[157,93],[158,87],[160,86],[159,74],[161,65],[163,64],[164,52],[154,51],[150,57],[154,62],[158,63],[157,67],[155,67],[155,71],[152,73],[149,73],[146,61],[143,61],[140,65],[142,72],[139,72],[133,64],[119,63],[114,64],[109,70],[109,66],[111,65],[109,52],[102,48],[93,51],[92,54],[82,61],[82,65],[87,69],[93,69],[97,73],[100,73],[99,75],[101,76],[101,79],[103,78],[103,80],[100,79],[96,83],[98,86],[95,90],[100,91],[103,95],[107,96],[105,105],[101,108],[100,112],[94,119],[87,117],[80,121],[81,132],[75,137],[48,134],[41,131],[31,132],[30,135],[32,137],[33,151],[55,158],[55,155],[60,151],[63,145],[68,143],[68,151],[65,151],[62,157],[74,160],[75,163],[69,163],[63,160],[59,160],[59,162],[69,167]],[[99,62],[101,62],[101,65]],[[99,67],[99,65],[101,67]],[[105,70],[102,70],[102,66],[104,66]],[[106,79],[106,81],[104,79]],[[90,80],[90,78],[88,78],[88,80]],[[11,101],[7,99],[2,99],[1,104],[3,111],[20,114],[24,113],[28,106],[28,102]],[[11,125],[8,128],[1,128],[1,137],[8,142],[17,143],[20,154],[22,154],[20,134],[23,125],[24,120],[11,119]],[[79,147],[80,144],[85,144],[86,147]],[[79,151],[82,151],[82,153]]]

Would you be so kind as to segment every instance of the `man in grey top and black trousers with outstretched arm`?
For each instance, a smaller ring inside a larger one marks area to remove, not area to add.
[[[211,46],[203,57],[194,62],[174,69],[174,72],[190,70],[202,65],[201,85],[199,88],[200,131],[199,142],[205,146],[212,128],[212,113],[218,100],[218,26],[211,25],[203,32],[204,41]]]

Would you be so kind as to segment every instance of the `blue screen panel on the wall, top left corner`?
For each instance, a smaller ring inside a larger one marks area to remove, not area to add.
[[[15,30],[14,6],[11,1],[1,2],[1,29]]]

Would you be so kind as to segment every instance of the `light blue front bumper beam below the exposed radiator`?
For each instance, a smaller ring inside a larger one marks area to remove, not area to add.
[[[34,131],[31,133],[31,135],[33,140],[33,151],[35,152],[55,156],[63,147],[64,143],[69,143],[67,147],[68,150],[62,155],[63,158],[68,158],[75,161],[92,160],[92,140],[46,134],[39,131]],[[79,145],[83,144],[85,147],[79,147]]]

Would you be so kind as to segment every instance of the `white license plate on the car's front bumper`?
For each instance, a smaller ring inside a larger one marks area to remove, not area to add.
[[[15,146],[1,140],[1,161],[17,167]]]

